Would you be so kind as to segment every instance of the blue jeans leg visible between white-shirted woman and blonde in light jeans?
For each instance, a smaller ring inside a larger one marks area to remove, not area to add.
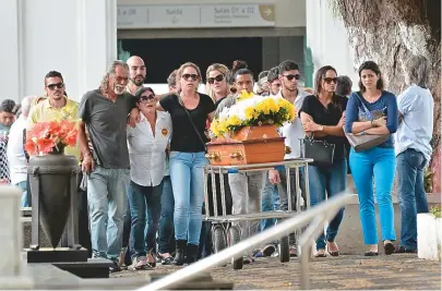
[[[174,192],[170,175],[163,179],[162,215],[159,218],[158,253],[171,253],[174,246]]]

